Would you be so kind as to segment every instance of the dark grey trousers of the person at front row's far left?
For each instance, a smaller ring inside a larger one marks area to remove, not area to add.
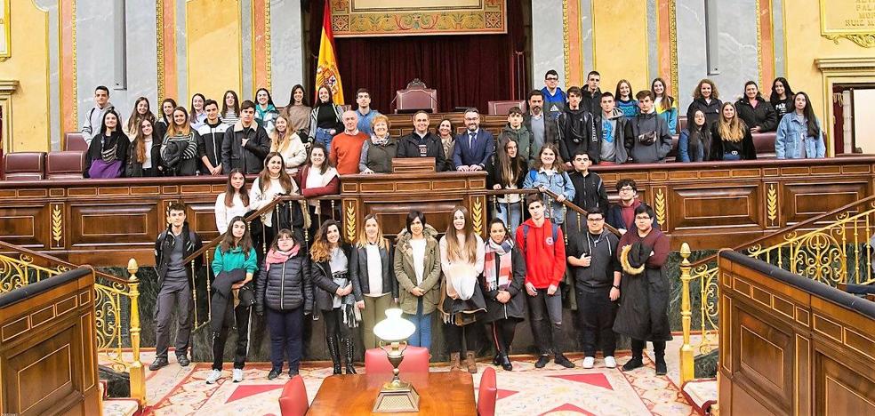
[[[189,352],[191,326],[194,324],[194,300],[191,299],[191,289],[186,278],[165,279],[158,291],[157,308],[155,311],[155,350],[157,358],[167,359],[167,349],[170,347],[170,325],[173,318],[173,307],[176,307],[176,356],[185,356]]]

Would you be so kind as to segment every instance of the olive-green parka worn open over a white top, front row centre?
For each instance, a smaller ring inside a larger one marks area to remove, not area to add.
[[[422,314],[430,314],[438,307],[440,300],[440,251],[438,250],[438,231],[425,226],[425,269],[420,289],[422,295]],[[405,314],[416,314],[417,297],[410,291],[416,287],[416,271],[413,268],[413,248],[410,246],[410,233],[402,230],[395,246],[395,278],[398,280],[398,303]]]

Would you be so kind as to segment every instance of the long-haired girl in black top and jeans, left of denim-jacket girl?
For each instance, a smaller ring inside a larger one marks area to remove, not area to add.
[[[526,156],[519,154],[518,143],[504,137],[498,140],[498,151],[486,165],[486,188],[522,189],[526,180]],[[522,194],[502,194],[496,197],[493,217],[499,218],[509,224],[510,229],[516,230],[523,218],[521,206]]]

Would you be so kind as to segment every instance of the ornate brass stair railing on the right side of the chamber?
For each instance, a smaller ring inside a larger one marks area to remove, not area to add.
[[[872,276],[873,236],[875,196],[870,196],[734,250],[831,286],[875,284],[875,276]],[[690,263],[690,254],[689,246],[682,244],[680,281],[684,343],[680,349],[681,382],[694,378],[695,353],[710,352],[718,344],[716,256]],[[698,284],[698,288],[693,284]],[[691,293],[696,289],[700,296],[697,308],[691,301]],[[697,322],[693,318],[698,318]],[[701,338],[691,343],[693,328],[701,333]]]

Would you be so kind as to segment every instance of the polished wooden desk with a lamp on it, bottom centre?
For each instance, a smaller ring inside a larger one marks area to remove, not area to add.
[[[477,415],[474,402],[474,379],[468,372],[429,372],[401,374],[420,395],[419,413],[372,413],[373,402],[383,383],[391,374],[335,375],[322,382],[322,387],[310,404],[308,415],[336,416],[342,414],[440,414],[446,416]]]

